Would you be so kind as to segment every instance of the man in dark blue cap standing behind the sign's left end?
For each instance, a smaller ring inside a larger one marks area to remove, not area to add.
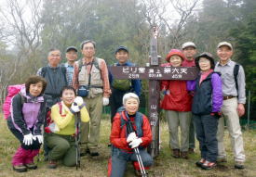
[[[115,58],[117,63],[114,66],[135,66],[129,62],[128,48],[120,45],[115,50]],[[111,72],[109,72],[109,82],[111,84],[112,95],[110,96],[110,107],[111,107],[111,122],[115,116],[115,113],[119,107],[122,107],[122,97],[133,92],[136,95],[141,95],[141,81],[140,80],[116,80]]]

